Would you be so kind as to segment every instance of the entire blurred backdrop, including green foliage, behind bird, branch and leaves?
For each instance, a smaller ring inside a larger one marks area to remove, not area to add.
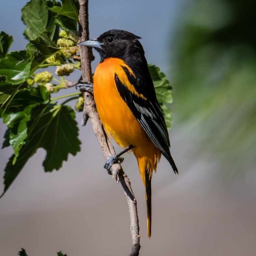
[[[20,11],[26,2],[1,3],[11,51],[27,44]],[[126,155],[123,163],[138,201],[140,255],[256,253],[254,12],[250,0],[89,1],[91,38],[112,28],[141,36],[148,63],[173,86],[171,151],[180,174],[162,159],[153,175],[151,240],[137,162]],[[81,113],[76,118],[80,123]],[[0,144],[5,130],[1,123]],[[21,247],[29,256],[129,254],[122,188],[102,168],[90,124],[80,126],[80,140],[81,152],[58,172],[44,173],[39,150],[0,200],[1,255],[17,255]],[[11,147],[1,150],[1,177],[11,154]]]

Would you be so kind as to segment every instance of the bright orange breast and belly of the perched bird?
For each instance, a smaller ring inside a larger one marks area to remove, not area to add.
[[[115,73],[120,80],[127,80],[128,84],[121,65],[130,70],[125,62],[118,58],[108,58],[98,65],[94,74],[94,99],[106,132],[122,148],[134,146],[132,152],[138,160],[141,178],[145,185],[145,170],[150,172],[150,176],[152,175],[161,153],[117,91]]]

